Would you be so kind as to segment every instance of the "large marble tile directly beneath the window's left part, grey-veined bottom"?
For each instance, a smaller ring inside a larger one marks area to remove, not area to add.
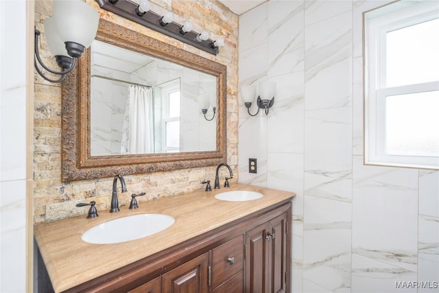
[[[416,271],[418,170],[353,159],[353,251]]]

